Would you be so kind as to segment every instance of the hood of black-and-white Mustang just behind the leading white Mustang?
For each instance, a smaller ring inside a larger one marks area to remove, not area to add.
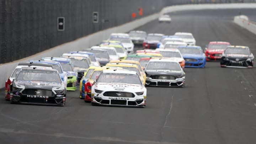
[[[174,70],[146,70],[145,71],[147,77],[150,75],[173,75],[173,76],[180,76],[183,75],[183,70],[180,71],[174,71]]]

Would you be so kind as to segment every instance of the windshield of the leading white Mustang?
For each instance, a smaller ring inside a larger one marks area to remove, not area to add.
[[[139,85],[142,84],[138,75],[117,73],[101,73],[96,82],[114,82]]]

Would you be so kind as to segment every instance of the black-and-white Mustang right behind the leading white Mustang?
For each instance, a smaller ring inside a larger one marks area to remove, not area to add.
[[[145,73],[146,86],[184,87],[185,85],[185,73],[175,60],[150,59]]]

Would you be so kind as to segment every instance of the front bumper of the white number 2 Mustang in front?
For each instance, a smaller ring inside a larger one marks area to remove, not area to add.
[[[98,96],[94,96],[98,95]],[[102,94],[91,94],[92,105],[122,106],[122,107],[145,107],[146,96],[135,97],[107,97]]]

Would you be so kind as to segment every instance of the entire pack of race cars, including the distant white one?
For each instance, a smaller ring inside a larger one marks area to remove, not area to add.
[[[143,49],[134,52],[135,44]],[[209,42],[203,50],[187,32],[112,33],[98,46],[19,63],[6,80],[5,99],[64,106],[66,91],[79,87],[78,96],[92,105],[145,107],[145,86],[184,87],[184,69],[204,68],[206,61],[252,68],[254,55],[249,47],[220,41]]]

